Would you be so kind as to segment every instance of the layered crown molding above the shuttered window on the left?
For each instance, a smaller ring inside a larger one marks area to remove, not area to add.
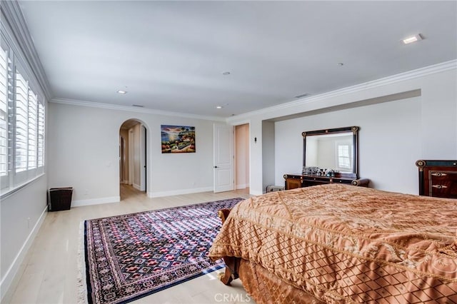
[[[1,14],[4,15],[4,21],[6,21],[11,29],[11,34],[14,36],[22,54],[24,54],[24,59],[26,63],[29,64],[36,81],[38,81],[39,86],[41,86],[41,90],[44,92],[46,100],[51,99],[51,86],[49,85],[48,78],[46,77],[46,73],[41,65],[39,56],[36,53],[34,41],[31,39],[29,29],[27,28],[24,15],[22,14],[18,1],[1,1]]]

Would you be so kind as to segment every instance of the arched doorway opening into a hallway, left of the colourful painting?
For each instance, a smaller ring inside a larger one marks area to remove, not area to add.
[[[142,121],[132,118],[119,128],[119,183],[121,201],[148,191],[148,131]]]

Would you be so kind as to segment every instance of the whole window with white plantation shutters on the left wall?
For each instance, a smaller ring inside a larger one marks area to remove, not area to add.
[[[11,40],[0,40],[0,194],[44,173],[44,94]]]

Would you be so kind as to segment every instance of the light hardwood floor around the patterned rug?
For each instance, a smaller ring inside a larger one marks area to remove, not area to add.
[[[195,193],[148,198],[131,186],[121,185],[121,202],[71,208],[47,213],[39,233],[2,303],[78,303],[80,225],[102,218],[160,208],[184,206],[225,198],[248,198],[248,189],[224,193]],[[220,272],[220,271],[219,271]],[[240,280],[226,286],[217,272],[154,293],[133,303],[254,303]]]

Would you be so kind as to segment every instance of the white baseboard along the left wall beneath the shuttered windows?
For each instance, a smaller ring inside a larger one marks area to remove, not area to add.
[[[27,251],[29,250],[31,244],[34,243],[36,233],[38,233],[41,224],[44,222],[44,218],[46,218],[46,215],[48,214],[47,211],[48,206],[44,208],[44,211],[41,213],[38,221],[36,221],[34,228],[31,229],[29,236],[27,236],[26,241],[19,250],[19,253],[17,253],[16,257],[14,258],[13,263],[11,263],[9,269],[6,270],[6,273],[0,282],[0,303],[3,303],[6,293],[11,293],[9,296],[12,296],[13,290],[9,290],[9,288],[11,285],[13,285],[13,283],[17,284],[17,282],[19,282],[20,276],[16,275],[19,273],[19,269],[21,268],[21,264],[24,261]]]

